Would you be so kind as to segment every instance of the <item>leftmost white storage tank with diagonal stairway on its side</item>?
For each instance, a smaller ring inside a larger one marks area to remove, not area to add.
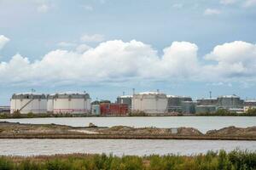
[[[20,114],[47,112],[47,99],[44,94],[13,94],[10,103],[10,113],[15,111],[19,111]]]

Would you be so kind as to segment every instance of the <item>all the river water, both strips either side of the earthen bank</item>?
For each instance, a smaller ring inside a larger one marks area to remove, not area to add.
[[[256,126],[256,116],[145,116],[145,117],[63,117],[2,119],[20,123],[55,123],[73,127],[90,122],[102,127],[195,127],[202,133],[222,127]],[[113,153],[113,155],[206,153],[207,150],[256,151],[256,141],[227,140],[164,140],[164,139],[0,139],[0,155],[34,156],[68,153]]]

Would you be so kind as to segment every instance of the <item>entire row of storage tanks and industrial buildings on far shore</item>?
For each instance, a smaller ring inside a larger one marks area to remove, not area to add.
[[[87,93],[56,93],[13,94],[10,107],[0,108],[0,111],[15,111],[21,114],[52,113],[52,114],[82,114],[88,116],[128,116],[130,113],[145,113],[151,116],[170,114],[207,114],[220,109],[242,113],[249,109],[256,109],[256,100],[242,100],[239,96],[223,95],[218,98],[193,100],[189,96],[166,95],[159,90],[153,92],[120,95],[115,103],[110,100],[91,102]]]

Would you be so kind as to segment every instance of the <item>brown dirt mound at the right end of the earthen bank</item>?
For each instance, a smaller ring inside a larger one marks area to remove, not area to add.
[[[207,131],[207,135],[221,135],[221,136],[256,136],[256,127],[224,127],[219,130]]]

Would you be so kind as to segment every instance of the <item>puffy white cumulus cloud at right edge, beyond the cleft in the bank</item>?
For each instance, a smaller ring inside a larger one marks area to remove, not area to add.
[[[207,75],[224,78],[255,78],[256,45],[248,42],[229,42],[216,46],[205,59],[217,65],[205,66]]]

